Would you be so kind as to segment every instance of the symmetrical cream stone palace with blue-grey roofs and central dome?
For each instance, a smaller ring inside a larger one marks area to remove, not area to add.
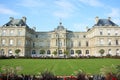
[[[10,17],[8,23],[0,26],[0,55],[19,56],[120,56],[120,27],[111,18],[95,18],[93,27],[85,32],[74,32],[66,29],[62,22],[48,32],[37,32],[26,23],[26,17],[14,19]],[[79,54],[77,54],[79,50]],[[44,52],[44,55],[41,54]]]

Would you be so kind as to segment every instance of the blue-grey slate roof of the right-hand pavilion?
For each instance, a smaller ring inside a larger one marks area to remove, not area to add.
[[[99,19],[95,26],[118,26],[118,25],[109,19]]]

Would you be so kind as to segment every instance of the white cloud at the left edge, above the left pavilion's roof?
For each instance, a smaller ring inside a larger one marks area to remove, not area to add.
[[[18,15],[17,12],[3,6],[2,4],[0,4],[0,14],[7,14],[7,15]]]

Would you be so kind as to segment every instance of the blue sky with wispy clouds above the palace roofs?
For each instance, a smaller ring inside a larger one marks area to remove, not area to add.
[[[51,31],[59,25],[72,31],[85,31],[95,17],[108,18],[120,25],[120,0],[0,0],[0,25],[9,17],[27,17],[37,31]]]

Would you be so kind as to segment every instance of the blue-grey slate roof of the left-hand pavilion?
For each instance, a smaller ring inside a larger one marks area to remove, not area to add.
[[[7,27],[7,26],[26,26],[28,27],[28,25],[26,24],[26,22],[24,22],[22,19],[13,19],[10,20],[8,23],[4,24],[3,27]]]

